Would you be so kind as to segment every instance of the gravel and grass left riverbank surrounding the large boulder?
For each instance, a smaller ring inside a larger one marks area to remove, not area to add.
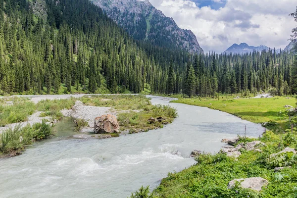
[[[9,131],[34,126],[37,123],[50,125],[63,117],[73,117],[77,130],[82,134],[75,134],[78,139],[105,139],[118,137],[119,134],[94,134],[94,120],[103,114],[117,116],[121,132],[138,133],[151,129],[162,128],[177,117],[176,109],[166,105],[152,105],[149,99],[142,95],[78,95],[75,96],[21,96],[0,99],[0,142]],[[148,123],[148,119],[162,117],[161,121]],[[1,134],[2,133],[2,134]],[[27,132],[26,132],[27,134]],[[22,134],[16,133],[14,139],[20,139]],[[34,136],[29,135],[32,140]],[[47,136],[48,137],[48,136]],[[46,138],[46,137],[45,137]],[[14,141],[13,139],[10,142]],[[9,140],[8,140],[9,142]],[[14,141],[10,149],[4,149],[0,143],[1,155],[15,156],[20,154],[27,145],[22,141]],[[7,145],[7,144],[6,144]],[[22,145],[19,149],[19,145]],[[15,152],[17,150],[17,152]]]

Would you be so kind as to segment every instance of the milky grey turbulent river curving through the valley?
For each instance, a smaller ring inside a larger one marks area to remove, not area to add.
[[[153,103],[168,103],[155,97]],[[163,129],[105,140],[73,140],[71,121],[56,138],[0,160],[1,198],[126,198],[142,185],[156,187],[168,172],[195,163],[194,149],[215,152],[223,138],[259,136],[264,129],[221,111],[170,103],[179,117]]]

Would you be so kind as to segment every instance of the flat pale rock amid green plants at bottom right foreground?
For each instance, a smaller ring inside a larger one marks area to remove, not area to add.
[[[251,189],[254,191],[261,191],[262,187],[268,184],[268,181],[262,177],[251,177],[245,179],[234,179],[228,183],[228,188],[234,188],[237,182],[240,182],[241,188]]]

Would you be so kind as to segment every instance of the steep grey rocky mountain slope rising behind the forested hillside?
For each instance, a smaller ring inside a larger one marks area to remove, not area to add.
[[[191,30],[183,30],[148,0],[91,0],[136,40],[203,53]]]

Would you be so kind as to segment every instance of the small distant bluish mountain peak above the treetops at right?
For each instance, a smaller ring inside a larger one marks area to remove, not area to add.
[[[253,47],[253,46],[248,46],[246,43],[241,43],[240,45],[237,44],[233,44],[230,48],[228,48],[226,51],[224,51],[223,53],[249,53],[249,52],[253,52],[253,50],[256,51],[262,51],[262,50],[268,50],[270,48],[268,48],[267,46],[259,46],[259,47]]]

